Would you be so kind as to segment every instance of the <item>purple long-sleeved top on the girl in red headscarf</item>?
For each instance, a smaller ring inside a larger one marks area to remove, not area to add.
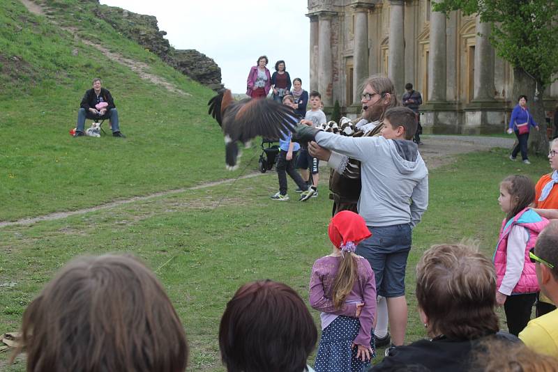
[[[310,277],[310,306],[325,313],[335,313],[342,316],[352,316],[356,313],[356,304],[345,304],[340,311],[335,311],[333,300],[331,300],[331,290],[333,281],[339,270],[341,257],[325,256],[319,258],[312,267]],[[357,268],[359,278],[354,282],[351,293],[346,300],[363,300],[364,306],[359,317],[361,329],[354,339],[356,345],[370,345],[370,330],[376,316],[376,279],[368,260],[359,257]]]

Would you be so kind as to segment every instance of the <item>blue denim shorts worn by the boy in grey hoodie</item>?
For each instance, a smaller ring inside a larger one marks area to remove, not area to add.
[[[383,297],[405,295],[405,269],[411,250],[411,226],[370,227],[372,236],[356,247],[356,254],[368,260],[376,278],[376,293]]]

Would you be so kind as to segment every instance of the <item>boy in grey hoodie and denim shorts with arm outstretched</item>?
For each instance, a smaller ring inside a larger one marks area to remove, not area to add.
[[[387,110],[383,125],[382,136],[359,138],[299,125],[294,139],[316,141],[361,162],[358,210],[372,237],[361,242],[356,253],[372,265],[377,295],[387,298],[393,345],[400,346],[407,327],[405,268],[412,228],[428,206],[428,169],[412,141],[416,119],[411,109]]]

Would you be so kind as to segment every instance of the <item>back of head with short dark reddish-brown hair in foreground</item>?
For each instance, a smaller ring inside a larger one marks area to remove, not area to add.
[[[227,303],[219,348],[228,372],[303,372],[317,341],[310,311],[289,286],[252,281]]]

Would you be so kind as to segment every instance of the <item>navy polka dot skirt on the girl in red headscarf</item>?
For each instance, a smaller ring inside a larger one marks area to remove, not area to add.
[[[363,372],[370,364],[356,359],[356,347],[351,348],[352,341],[359,334],[361,323],[357,318],[338,316],[322,331],[319,339],[318,354],[316,356],[316,372]],[[372,339],[370,346],[376,348],[374,342],[374,330],[371,331]]]

